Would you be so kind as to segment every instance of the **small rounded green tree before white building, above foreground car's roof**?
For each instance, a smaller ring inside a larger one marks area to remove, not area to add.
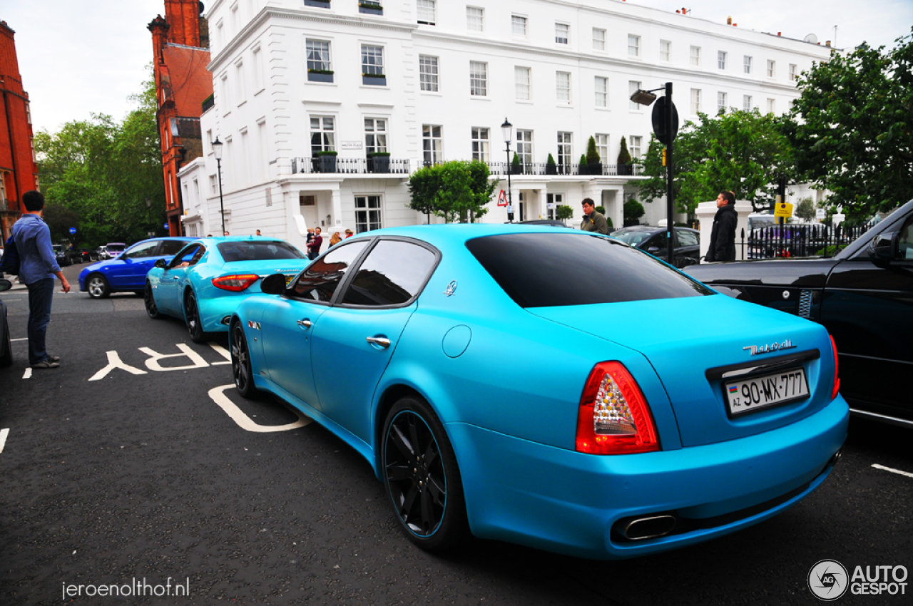
[[[446,223],[474,221],[488,212],[498,183],[488,181],[485,162],[453,161],[427,166],[409,177],[409,208],[443,217]]]

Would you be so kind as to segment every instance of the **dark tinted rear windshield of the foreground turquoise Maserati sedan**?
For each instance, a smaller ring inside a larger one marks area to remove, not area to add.
[[[597,235],[489,235],[466,246],[522,308],[715,294],[655,257]]]

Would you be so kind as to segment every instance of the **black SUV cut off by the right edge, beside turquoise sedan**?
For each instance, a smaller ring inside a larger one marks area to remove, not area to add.
[[[913,200],[833,258],[692,266],[730,297],[813,319],[834,337],[854,413],[913,427]]]

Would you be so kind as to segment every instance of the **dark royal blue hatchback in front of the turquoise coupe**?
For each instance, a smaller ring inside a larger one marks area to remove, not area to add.
[[[142,240],[106,261],[99,261],[79,272],[79,290],[91,298],[105,298],[112,292],[142,295],[146,274],[155,262],[177,254],[194,238],[173,236]]]

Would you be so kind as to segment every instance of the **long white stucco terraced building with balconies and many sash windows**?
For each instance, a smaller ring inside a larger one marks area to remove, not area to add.
[[[639,179],[618,174],[621,140],[636,156],[652,131],[634,89],[671,81],[682,123],[721,106],[782,113],[796,75],[830,52],[615,0],[214,0],[206,16],[215,104],[205,156],[180,175],[186,233],[221,231],[218,138],[226,228],[298,246],[303,225],[425,223],[407,207],[424,162],[477,158],[505,174],[505,118],[524,164],[511,175],[516,219],[570,204],[579,225],[590,197],[620,226]],[[603,167],[579,174],[591,136]],[[337,152],[335,167],[320,151]],[[369,158],[378,151],[388,164]],[[645,206],[650,223],[665,216]],[[483,221],[507,220],[489,208]]]

